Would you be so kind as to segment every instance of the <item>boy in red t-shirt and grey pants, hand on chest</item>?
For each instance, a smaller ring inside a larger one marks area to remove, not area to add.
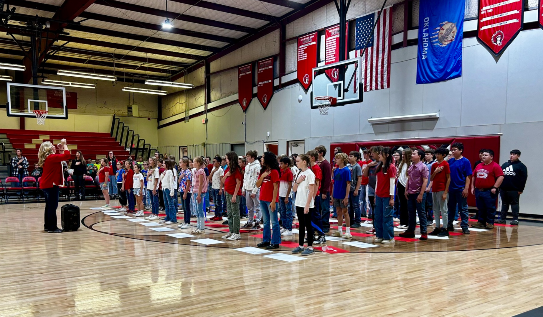
[[[428,235],[447,235],[447,223],[449,216],[447,202],[449,201],[449,184],[451,183],[451,169],[445,158],[449,155],[449,150],[445,147],[439,147],[435,150],[435,163],[432,164],[430,171],[430,182],[432,182],[432,208],[434,211],[435,229]],[[441,216],[441,217],[440,217]],[[443,228],[440,228],[443,220]]]

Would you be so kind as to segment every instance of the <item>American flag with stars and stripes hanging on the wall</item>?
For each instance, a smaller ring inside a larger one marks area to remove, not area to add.
[[[379,11],[375,11],[356,19],[355,56],[362,55],[360,82],[364,85],[364,91],[384,89],[390,86],[392,7],[383,9],[374,32],[371,33],[371,28],[374,26],[378,14]],[[368,41],[368,45],[364,50],[366,41]],[[356,88],[355,81],[355,91]]]

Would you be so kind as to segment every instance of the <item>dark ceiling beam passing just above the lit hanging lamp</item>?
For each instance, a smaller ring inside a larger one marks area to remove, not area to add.
[[[245,33],[250,33],[255,30],[254,28],[238,26],[237,24],[220,22],[217,20],[210,20],[208,18],[201,18],[201,17],[186,15],[186,14],[179,15],[179,13],[175,13],[175,12],[166,12],[165,10],[153,9],[149,7],[144,7],[143,5],[135,5],[135,4],[116,1],[116,0],[96,0],[95,3],[100,4],[100,5],[105,5],[106,7],[112,7],[112,8],[128,10],[128,11],[135,11],[139,13],[156,15],[156,16],[163,16],[164,18],[166,18],[166,15],[168,15],[168,16],[171,16],[171,19],[176,18],[176,20],[203,24],[206,26],[216,27],[216,28],[236,30],[236,31],[245,32]]]

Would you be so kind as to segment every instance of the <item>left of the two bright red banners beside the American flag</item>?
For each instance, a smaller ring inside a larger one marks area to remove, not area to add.
[[[307,90],[313,80],[313,68],[317,67],[318,32],[298,38],[298,80]]]

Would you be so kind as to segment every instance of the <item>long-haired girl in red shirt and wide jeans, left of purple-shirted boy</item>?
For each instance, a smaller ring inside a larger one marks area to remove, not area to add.
[[[383,147],[379,152],[379,163],[375,168],[377,178],[375,184],[374,228],[376,243],[394,243],[394,183],[396,181],[396,166],[392,162],[390,148]],[[364,176],[369,175],[369,169],[364,170]]]

